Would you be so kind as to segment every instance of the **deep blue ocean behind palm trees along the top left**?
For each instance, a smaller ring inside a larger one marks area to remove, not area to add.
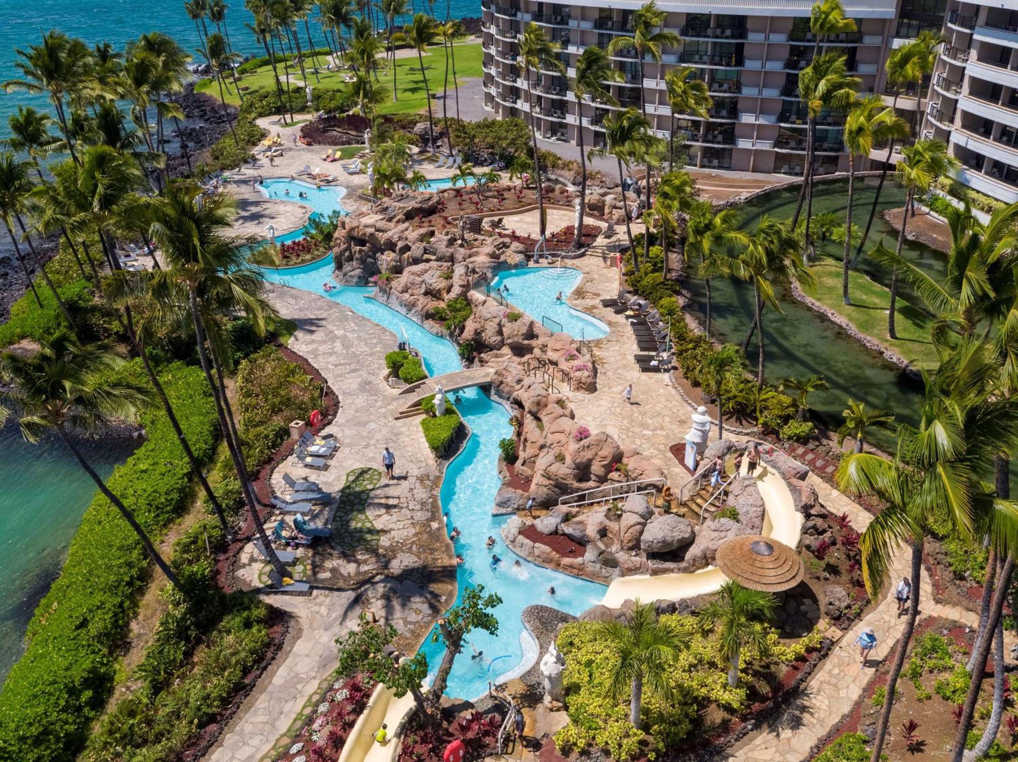
[[[476,17],[480,15],[479,0],[448,0],[427,5],[427,0],[411,0],[416,11],[434,9],[436,17],[442,19],[448,13],[450,18]],[[250,13],[239,0],[227,3],[226,32],[234,51],[243,55],[264,55],[263,47],[244,26],[252,21]],[[199,33],[194,22],[184,12],[183,0],[169,2],[142,3],[138,0],[43,0],[39,3],[21,3],[14,0],[0,0],[0,8],[6,8],[7,22],[0,25],[0,79],[7,80],[19,76],[14,66],[15,49],[26,49],[36,45],[49,30],[59,30],[70,37],[78,37],[93,45],[108,41],[118,50],[126,43],[137,39],[147,32],[162,32],[173,37],[181,47],[191,52],[195,60],[199,52]],[[316,48],[325,47],[325,35],[321,25],[315,22],[318,6],[310,16],[312,41]],[[209,32],[216,31],[215,24],[206,20]],[[301,47],[307,44],[306,32],[300,30]],[[49,101],[44,96],[23,92],[0,94],[0,134],[7,133],[7,117],[17,111],[20,104],[46,108]]]

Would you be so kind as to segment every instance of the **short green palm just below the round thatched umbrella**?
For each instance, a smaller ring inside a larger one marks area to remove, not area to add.
[[[726,580],[718,597],[696,615],[700,627],[721,630],[719,652],[721,658],[731,664],[728,668],[730,688],[739,684],[739,656],[744,646],[767,655],[767,631],[758,627],[758,622],[771,621],[777,608],[778,600],[771,593],[750,590],[734,580]]]

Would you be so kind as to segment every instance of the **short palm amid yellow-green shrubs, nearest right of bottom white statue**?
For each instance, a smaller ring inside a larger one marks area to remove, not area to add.
[[[638,730],[643,689],[672,698],[672,662],[689,645],[688,637],[662,622],[654,604],[639,601],[624,624],[609,619],[598,624],[598,633],[619,657],[608,683],[608,698],[618,701],[629,689],[629,722]]]

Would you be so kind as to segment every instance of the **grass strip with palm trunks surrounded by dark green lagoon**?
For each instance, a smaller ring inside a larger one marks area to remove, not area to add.
[[[937,352],[929,340],[932,318],[899,295],[895,321],[898,338],[889,338],[891,292],[887,288],[858,270],[849,270],[848,293],[852,304],[844,305],[841,300],[841,261],[821,255],[811,270],[816,276],[816,290],[810,294],[813,298],[848,318],[864,334],[894,349],[917,368],[937,367]]]

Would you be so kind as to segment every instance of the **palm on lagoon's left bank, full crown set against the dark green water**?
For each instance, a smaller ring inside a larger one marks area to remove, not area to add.
[[[753,284],[753,304],[757,327],[758,360],[756,385],[764,386],[764,305],[769,304],[782,312],[776,286],[797,282],[811,288],[815,277],[797,256],[800,241],[788,221],[764,216],[748,246],[732,258],[731,272],[740,280]]]

